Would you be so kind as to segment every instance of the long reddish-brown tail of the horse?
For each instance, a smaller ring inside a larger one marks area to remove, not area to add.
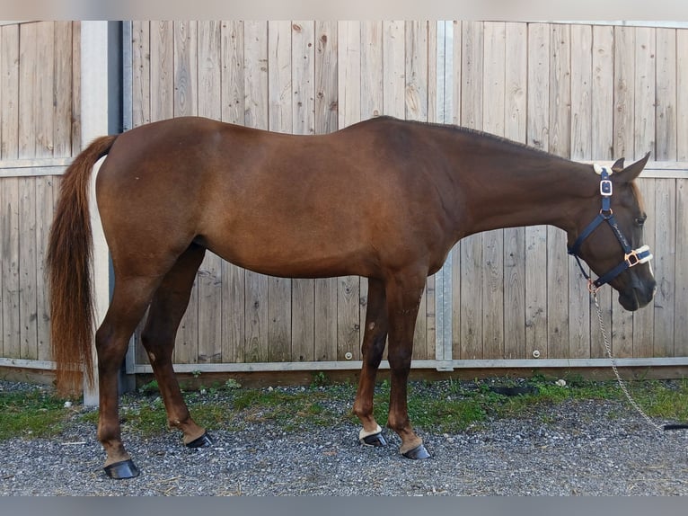
[[[69,165],[50,229],[48,281],[50,347],[57,362],[57,391],[77,393],[82,369],[93,386],[93,236],[89,195],[93,165],[117,136],[97,138]]]

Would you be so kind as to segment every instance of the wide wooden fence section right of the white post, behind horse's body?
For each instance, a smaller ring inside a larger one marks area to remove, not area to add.
[[[679,245],[688,176],[677,163],[688,159],[678,94],[688,32],[523,22],[135,22],[133,33],[134,125],[200,114],[314,134],[384,113],[484,129],[579,160],[651,151],[662,163],[640,183],[654,215],[647,238],[657,256],[657,300],[631,315],[605,289],[604,316],[620,357],[688,355]],[[463,240],[444,271],[452,292],[443,307],[428,280],[414,358],[438,358],[437,312],[447,304],[451,349],[442,344],[442,360],[527,359],[534,351],[542,359],[604,357],[586,283],[565,250],[563,232],[552,227]],[[365,306],[365,280],[278,280],[211,256],[176,361],[357,360]]]

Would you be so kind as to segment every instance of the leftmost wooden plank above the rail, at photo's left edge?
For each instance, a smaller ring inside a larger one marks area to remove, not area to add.
[[[0,27],[0,157],[19,156],[19,25]]]

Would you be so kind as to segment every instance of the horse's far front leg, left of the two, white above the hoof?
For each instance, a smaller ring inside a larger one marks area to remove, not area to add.
[[[354,414],[358,416],[363,429],[358,439],[368,446],[385,446],[382,429],[373,415],[373,395],[375,377],[383,358],[384,344],[387,340],[387,307],[385,306],[384,283],[371,278],[368,280],[368,304],[366,307],[366,328],[363,334],[361,352],[363,366],[358,380]]]

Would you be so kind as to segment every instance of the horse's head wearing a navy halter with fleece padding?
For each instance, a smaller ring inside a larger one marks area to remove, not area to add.
[[[585,260],[599,276],[588,279],[591,291],[609,283],[627,310],[647,305],[657,289],[649,264],[652,254],[642,239],[647,214],[634,182],[648,157],[625,168],[623,158],[611,169],[595,165],[599,190],[578,213],[576,233],[569,232],[569,254]]]

